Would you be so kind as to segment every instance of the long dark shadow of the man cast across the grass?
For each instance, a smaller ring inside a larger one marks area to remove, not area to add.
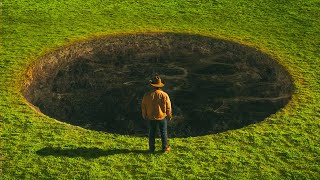
[[[36,152],[40,156],[65,156],[65,157],[83,157],[83,158],[98,158],[101,156],[110,156],[115,154],[149,154],[148,150],[129,150],[129,149],[111,149],[103,150],[99,148],[76,148],[76,149],[62,149],[46,147]]]

